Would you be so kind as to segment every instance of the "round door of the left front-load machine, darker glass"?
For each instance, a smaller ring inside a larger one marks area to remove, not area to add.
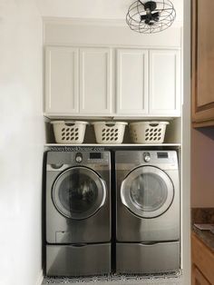
[[[67,218],[89,218],[102,207],[105,199],[105,182],[89,168],[70,168],[53,184],[53,203]]]

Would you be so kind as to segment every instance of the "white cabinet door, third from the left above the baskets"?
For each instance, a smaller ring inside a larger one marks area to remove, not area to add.
[[[117,114],[148,113],[148,52],[117,51]]]

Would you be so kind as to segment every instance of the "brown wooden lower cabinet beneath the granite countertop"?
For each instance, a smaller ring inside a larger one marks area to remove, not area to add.
[[[214,284],[214,252],[191,234],[192,285]]]

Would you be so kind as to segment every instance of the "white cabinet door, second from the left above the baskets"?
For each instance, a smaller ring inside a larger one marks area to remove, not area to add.
[[[80,49],[80,113],[111,114],[112,51]]]

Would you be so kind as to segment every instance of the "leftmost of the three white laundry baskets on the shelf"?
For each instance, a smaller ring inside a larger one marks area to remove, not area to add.
[[[87,122],[53,121],[56,143],[83,143]]]

